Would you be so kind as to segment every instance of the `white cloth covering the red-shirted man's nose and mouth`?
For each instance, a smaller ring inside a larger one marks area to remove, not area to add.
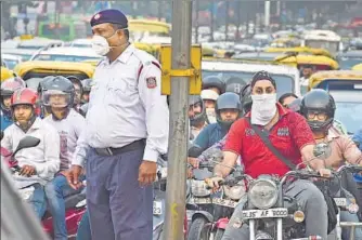
[[[276,114],[276,94],[251,95],[251,124],[267,125]]]

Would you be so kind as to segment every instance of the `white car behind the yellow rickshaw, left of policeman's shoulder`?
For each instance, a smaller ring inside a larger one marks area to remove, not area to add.
[[[86,48],[51,48],[39,51],[30,61],[60,61],[60,62],[87,62],[101,61],[103,56],[98,55],[93,50]]]

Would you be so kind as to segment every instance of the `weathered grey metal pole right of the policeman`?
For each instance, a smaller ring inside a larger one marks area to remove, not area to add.
[[[172,69],[190,69],[192,0],[172,2]],[[189,77],[171,78],[170,137],[168,151],[166,236],[183,240],[189,143]]]

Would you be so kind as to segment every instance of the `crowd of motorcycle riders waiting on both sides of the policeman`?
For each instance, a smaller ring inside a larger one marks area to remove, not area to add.
[[[275,81],[266,71],[257,72],[242,89],[230,82],[227,84],[218,76],[206,77],[201,95],[189,98],[190,146],[203,151],[197,158],[189,156],[189,168],[197,169],[201,162],[207,162],[205,152],[210,149],[224,151],[222,164],[217,164],[215,175],[207,179],[214,191],[237,163],[255,178],[263,174],[282,177],[290,170],[289,165],[302,161],[311,171],[326,177],[344,164],[362,165],[362,125],[352,138],[346,135],[342,124],[334,118],[336,105],[328,92],[312,90],[303,97],[285,93],[276,99]],[[54,239],[67,238],[65,197],[85,187],[80,184],[79,188],[72,188],[66,176],[77,139],[86,131],[83,117],[91,86],[91,79],[80,81],[73,76],[46,77],[37,92],[26,88],[18,77],[1,83],[1,131],[4,131],[1,146],[14,150],[25,135],[41,139],[37,147],[17,155],[21,170],[14,174],[14,181],[17,188],[35,188],[28,201],[39,218],[48,208],[53,216]],[[274,149],[267,147],[264,136]],[[323,159],[313,154],[314,145],[320,143],[326,143],[331,151]],[[189,177],[192,177],[190,171]],[[352,174],[346,176],[344,187],[362,206],[361,189]],[[286,185],[285,195],[297,199],[306,213],[306,236],[326,239],[331,206],[316,185],[308,179],[292,181]],[[248,239],[242,214],[245,204],[235,208],[223,239]],[[342,211],[340,217],[344,222],[358,223],[362,215],[361,211]],[[83,222],[87,225],[87,219]],[[349,239],[349,234],[344,228],[342,239]],[[362,239],[361,228],[355,228],[354,237]]]

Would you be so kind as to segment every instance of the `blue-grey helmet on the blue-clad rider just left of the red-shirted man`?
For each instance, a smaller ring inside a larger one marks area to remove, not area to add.
[[[219,122],[219,124],[230,128],[234,121],[223,121],[220,115],[220,111],[222,109],[236,109],[238,110],[238,114],[240,114],[238,117],[241,117],[243,110],[242,110],[242,103],[241,103],[240,96],[236,93],[229,92],[229,93],[221,94],[216,102],[215,111],[216,111],[217,121]]]

